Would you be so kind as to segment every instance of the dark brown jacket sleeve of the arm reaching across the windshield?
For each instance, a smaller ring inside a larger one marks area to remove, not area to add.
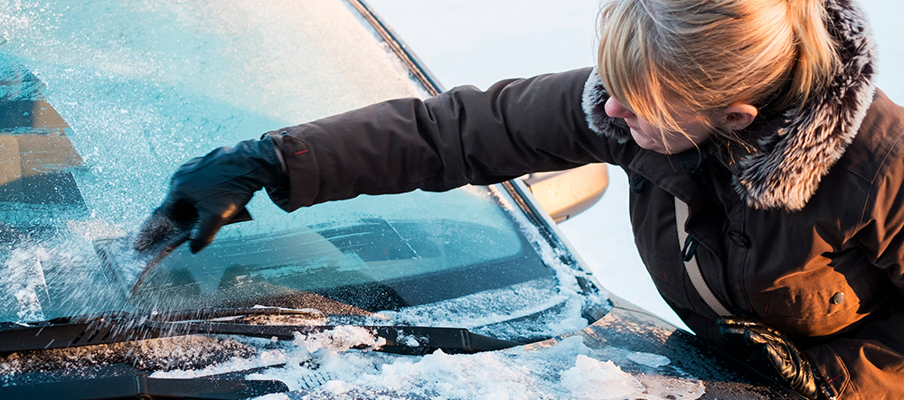
[[[359,194],[447,191],[524,173],[611,162],[581,108],[591,70],[400,98],[269,132],[285,161],[288,211]]]

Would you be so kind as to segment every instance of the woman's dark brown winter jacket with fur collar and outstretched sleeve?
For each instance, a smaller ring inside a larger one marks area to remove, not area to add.
[[[631,181],[640,255],[692,330],[720,344],[679,259],[675,198],[689,205],[702,275],[730,312],[794,339],[845,399],[904,398],[904,109],[871,86],[861,14],[843,0],[827,8],[843,70],[801,110],[759,119],[747,146],[641,149],[603,112],[598,74],[572,70],[274,131],[289,181],[270,196],[292,210],[616,164]]]

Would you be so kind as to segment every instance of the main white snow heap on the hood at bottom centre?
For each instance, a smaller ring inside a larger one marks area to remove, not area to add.
[[[584,345],[580,337],[537,351],[521,348],[423,358],[394,358],[360,371],[339,366],[323,386],[285,398],[697,398],[699,381],[632,375]],[[359,364],[360,365],[360,364]],[[326,367],[326,366],[325,366]],[[266,377],[261,374],[260,377]]]

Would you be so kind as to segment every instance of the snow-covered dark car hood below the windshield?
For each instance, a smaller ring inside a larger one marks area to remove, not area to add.
[[[400,340],[417,345],[419,338]],[[58,386],[141,377],[278,382],[265,393],[287,398],[794,398],[730,358],[713,357],[691,334],[622,305],[583,330],[511,349],[413,357],[373,351],[382,344],[368,330],[339,326],[289,341],[194,335],[44,350],[0,362],[5,379],[42,363],[41,372],[16,375],[22,385],[0,391],[42,393],[47,384],[28,385],[29,377],[52,377]]]

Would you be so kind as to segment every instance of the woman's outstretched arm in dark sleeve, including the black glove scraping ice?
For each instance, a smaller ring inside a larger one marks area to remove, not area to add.
[[[506,181],[527,172],[611,162],[581,107],[590,69],[401,98],[214,150],[174,174],[136,248],[190,239],[200,251],[266,188],[291,211],[359,194]]]

